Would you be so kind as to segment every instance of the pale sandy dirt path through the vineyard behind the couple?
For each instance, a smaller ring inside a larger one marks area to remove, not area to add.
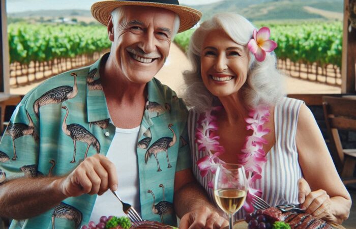
[[[158,78],[163,84],[168,85],[178,95],[181,94],[181,89],[184,87],[182,72],[190,69],[191,65],[184,52],[172,43],[170,54],[163,68],[158,72]],[[341,93],[339,87],[325,85],[317,82],[310,82],[298,78],[284,78],[287,94],[338,94]],[[29,90],[36,87],[40,82],[26,85],[20,88],[10,89],[11,94],[24,95]]]

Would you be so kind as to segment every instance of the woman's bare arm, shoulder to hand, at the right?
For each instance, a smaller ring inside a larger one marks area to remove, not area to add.
[[[301,199],[301,206],[311,215],[341,223],[348,218],[351,198],[336,171],[314,116],[304,104],[299,112],[295,138],[299,164],[311,190],[305,193],[305,199]]]

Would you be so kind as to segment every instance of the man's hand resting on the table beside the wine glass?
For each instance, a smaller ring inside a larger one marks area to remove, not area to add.
[[[190,225],[190,226],[189,226]],[[218,229],[228,226],[229,222],[208,207],[196,208],[185,214],[179,224],[180,229]]]

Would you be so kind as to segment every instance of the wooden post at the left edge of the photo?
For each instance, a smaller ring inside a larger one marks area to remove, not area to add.
[[[10,67],[5,0],[0,0],[0,26],[0,92],[9,93]]]

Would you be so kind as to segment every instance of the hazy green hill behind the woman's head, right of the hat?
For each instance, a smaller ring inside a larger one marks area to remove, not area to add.
[[[251,21],[289,19],[342,20],[343,0],[224,0],[194,6],[203,20],[218,12],[236,12]]]

